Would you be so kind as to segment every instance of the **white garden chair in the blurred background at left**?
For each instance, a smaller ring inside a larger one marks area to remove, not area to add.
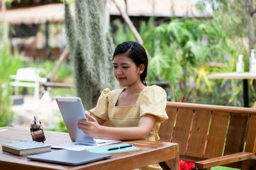
[[[10,75],[11,85],[15,87],[15,95],[19,95],[19,87],[32,87],[35,89],[34,97],[38,99],[40,92],[40,83],[47,81],[47,78],[39,76],[40,69],[25,67],[17,70],[16,75]]]

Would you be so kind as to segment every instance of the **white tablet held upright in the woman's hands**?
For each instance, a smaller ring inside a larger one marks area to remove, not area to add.
[[[76,142],[95,143],[94,138],[86,136],[86,134],[77,127],[78,120],[87,120],[81,99],[79,97],[56,97],[56,101],[70,139]]]

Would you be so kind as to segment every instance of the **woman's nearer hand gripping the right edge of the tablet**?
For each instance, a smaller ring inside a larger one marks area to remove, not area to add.
[[[102,126],[98,124],[96,118],[92,117],[88,113],[86,113],[86,117],[88,120],[78,120],[77,127],[81,129],[87,136],[93,138],[98,137],[100,135],[100,128]]]

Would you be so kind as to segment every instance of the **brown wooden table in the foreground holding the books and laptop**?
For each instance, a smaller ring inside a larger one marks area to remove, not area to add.
[[[71,142],[68,133],[45,131],[45,143],[51,145]],[[28,129],[0,127],[0,145],[15,141],[31,141]],[[172,160],[173,169],[179,169],[179,146],[177,143],[159,141],[125,141],[140,148],[136,152],[113,154],[110,159],[99,160],[81,166],[65,166],[27,160],[26,156],[0,151],[0,169],[135,169],[165,160]],[[53,150],[53,149],[52,149]]]

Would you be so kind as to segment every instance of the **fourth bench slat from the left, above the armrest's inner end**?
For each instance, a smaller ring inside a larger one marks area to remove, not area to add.
[[[213,157],[220,157],[222,155],[229,116],[229,113],[212,111],[211,127],[209,130],[204,158],[210,159]]]

